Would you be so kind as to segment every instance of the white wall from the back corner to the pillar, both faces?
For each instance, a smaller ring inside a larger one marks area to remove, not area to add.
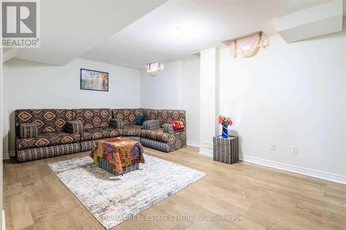
[[[188,143],[199,145],[199,59],[164,65],[155,77],[140,71],[140,106],[185,110]]]

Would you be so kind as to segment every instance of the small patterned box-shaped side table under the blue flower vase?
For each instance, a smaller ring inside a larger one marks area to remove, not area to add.
[[[221,136],[213,139],[213,160],[233,164],[239,160],[238,137],[230,136],[222,138]]]

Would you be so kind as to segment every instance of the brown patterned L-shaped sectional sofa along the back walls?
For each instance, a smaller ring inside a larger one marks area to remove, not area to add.
[[[142,126],[135,124],[145,115]],[[90,151],[95,142],[124,136],[163,152],[186,146],[186,131],[174,131],[169,121],[186,124],[185,111],[148,108],[21,109],[15,111],[18,162]]]

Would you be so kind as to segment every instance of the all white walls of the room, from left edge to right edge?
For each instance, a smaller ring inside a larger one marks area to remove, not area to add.
[[[219,59],[219,103],[217,92],[209,94],[222,115],[233,117],[231,130],[239,134],[241,154],[345,175],[345,38],[343,32],[286,44],[273,36],[266,49],[248,59],[233,59],[227,48],[220,50],[212,61],[217,66]],[[201,69],[205,64],[208,61],[201,62]],[[108,71],[110,91],[80,90],[80,68]],[[187,113],[188,141],[199,142],[205,125],[200,123],[199,68],[199,60],[172,61],[151,77],[145,70],[83,59],[66,66],[8,61],[4,151],[8,138],[14,149],[17,108],[181,108]],[[203,95],[208,97],[208,92]],[[271,143],[276,151],[270,150]],[[293,144],[298,155],[291,153]]]

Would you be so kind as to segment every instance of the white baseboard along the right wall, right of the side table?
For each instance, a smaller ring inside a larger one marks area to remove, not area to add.
[[[292,173],[309,175],[313,178],[320,178],[323,180],[330,180],[332,182],[338,182],[340,184],[346,184],[346,176],[345,175],[338,175],[338,174],[334,174],[334,173],[327,173],[325,171],[318,171],[318,170],[314,170],[314,169],[302,168],[302,167],[294,166],[291,164],[283,164],[280,162],[273,162],[271,160],[265,160],[265,159],[253,157],[250,155],[239,155],[239,160],[243,160],[244,162],[251,162],[253,164],[260,164],[263,166],[268,166],[268,167],[271,167],[274,169],[281,169],[281,170],[289,171]]]

